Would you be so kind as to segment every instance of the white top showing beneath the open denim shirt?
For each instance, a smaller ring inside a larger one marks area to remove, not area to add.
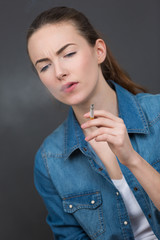
[[[147,218],[142,212],[142,209],[140,208],[124,176],[120,180],[112,179],[112,182],[121,193],[121,196],[125,203],[134,238],[136,240],[158,240],[154,235]]]

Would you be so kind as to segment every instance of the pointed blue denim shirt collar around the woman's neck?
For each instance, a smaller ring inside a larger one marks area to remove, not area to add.
[[[136,96],[111,80],[108,83],[116,91],[119,117],[123,119],[128,133],[149,133],[146,117]],[[83,131],[70,108],[65,126],[66,158],[76,149],[80,149],[82,152],[87,149],[87,142],[84,139]]]

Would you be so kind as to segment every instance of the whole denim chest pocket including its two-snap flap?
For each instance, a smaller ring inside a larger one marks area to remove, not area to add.
[[[104,232],[100,192],[83,193],[63,199],[64,211],[73,214],[84,231],[95,239]]]

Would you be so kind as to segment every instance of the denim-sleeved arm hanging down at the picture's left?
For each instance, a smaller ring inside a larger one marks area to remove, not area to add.
[[[48,175],[40,151],[36,155],[34,182],[48,210],[47,223],[54,233],[54,239],[89,240],[75,218],[63,211],[62,199]]]

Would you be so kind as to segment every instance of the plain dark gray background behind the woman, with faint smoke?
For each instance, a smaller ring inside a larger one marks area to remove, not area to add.
[[[52,239],[33,185],[34,154],[67,114],[33,73],[28,26],[41,11],[70,6],[102,33],[120,65],[151,93],[160,92],[159,0],[0,1],[0,239]]]

